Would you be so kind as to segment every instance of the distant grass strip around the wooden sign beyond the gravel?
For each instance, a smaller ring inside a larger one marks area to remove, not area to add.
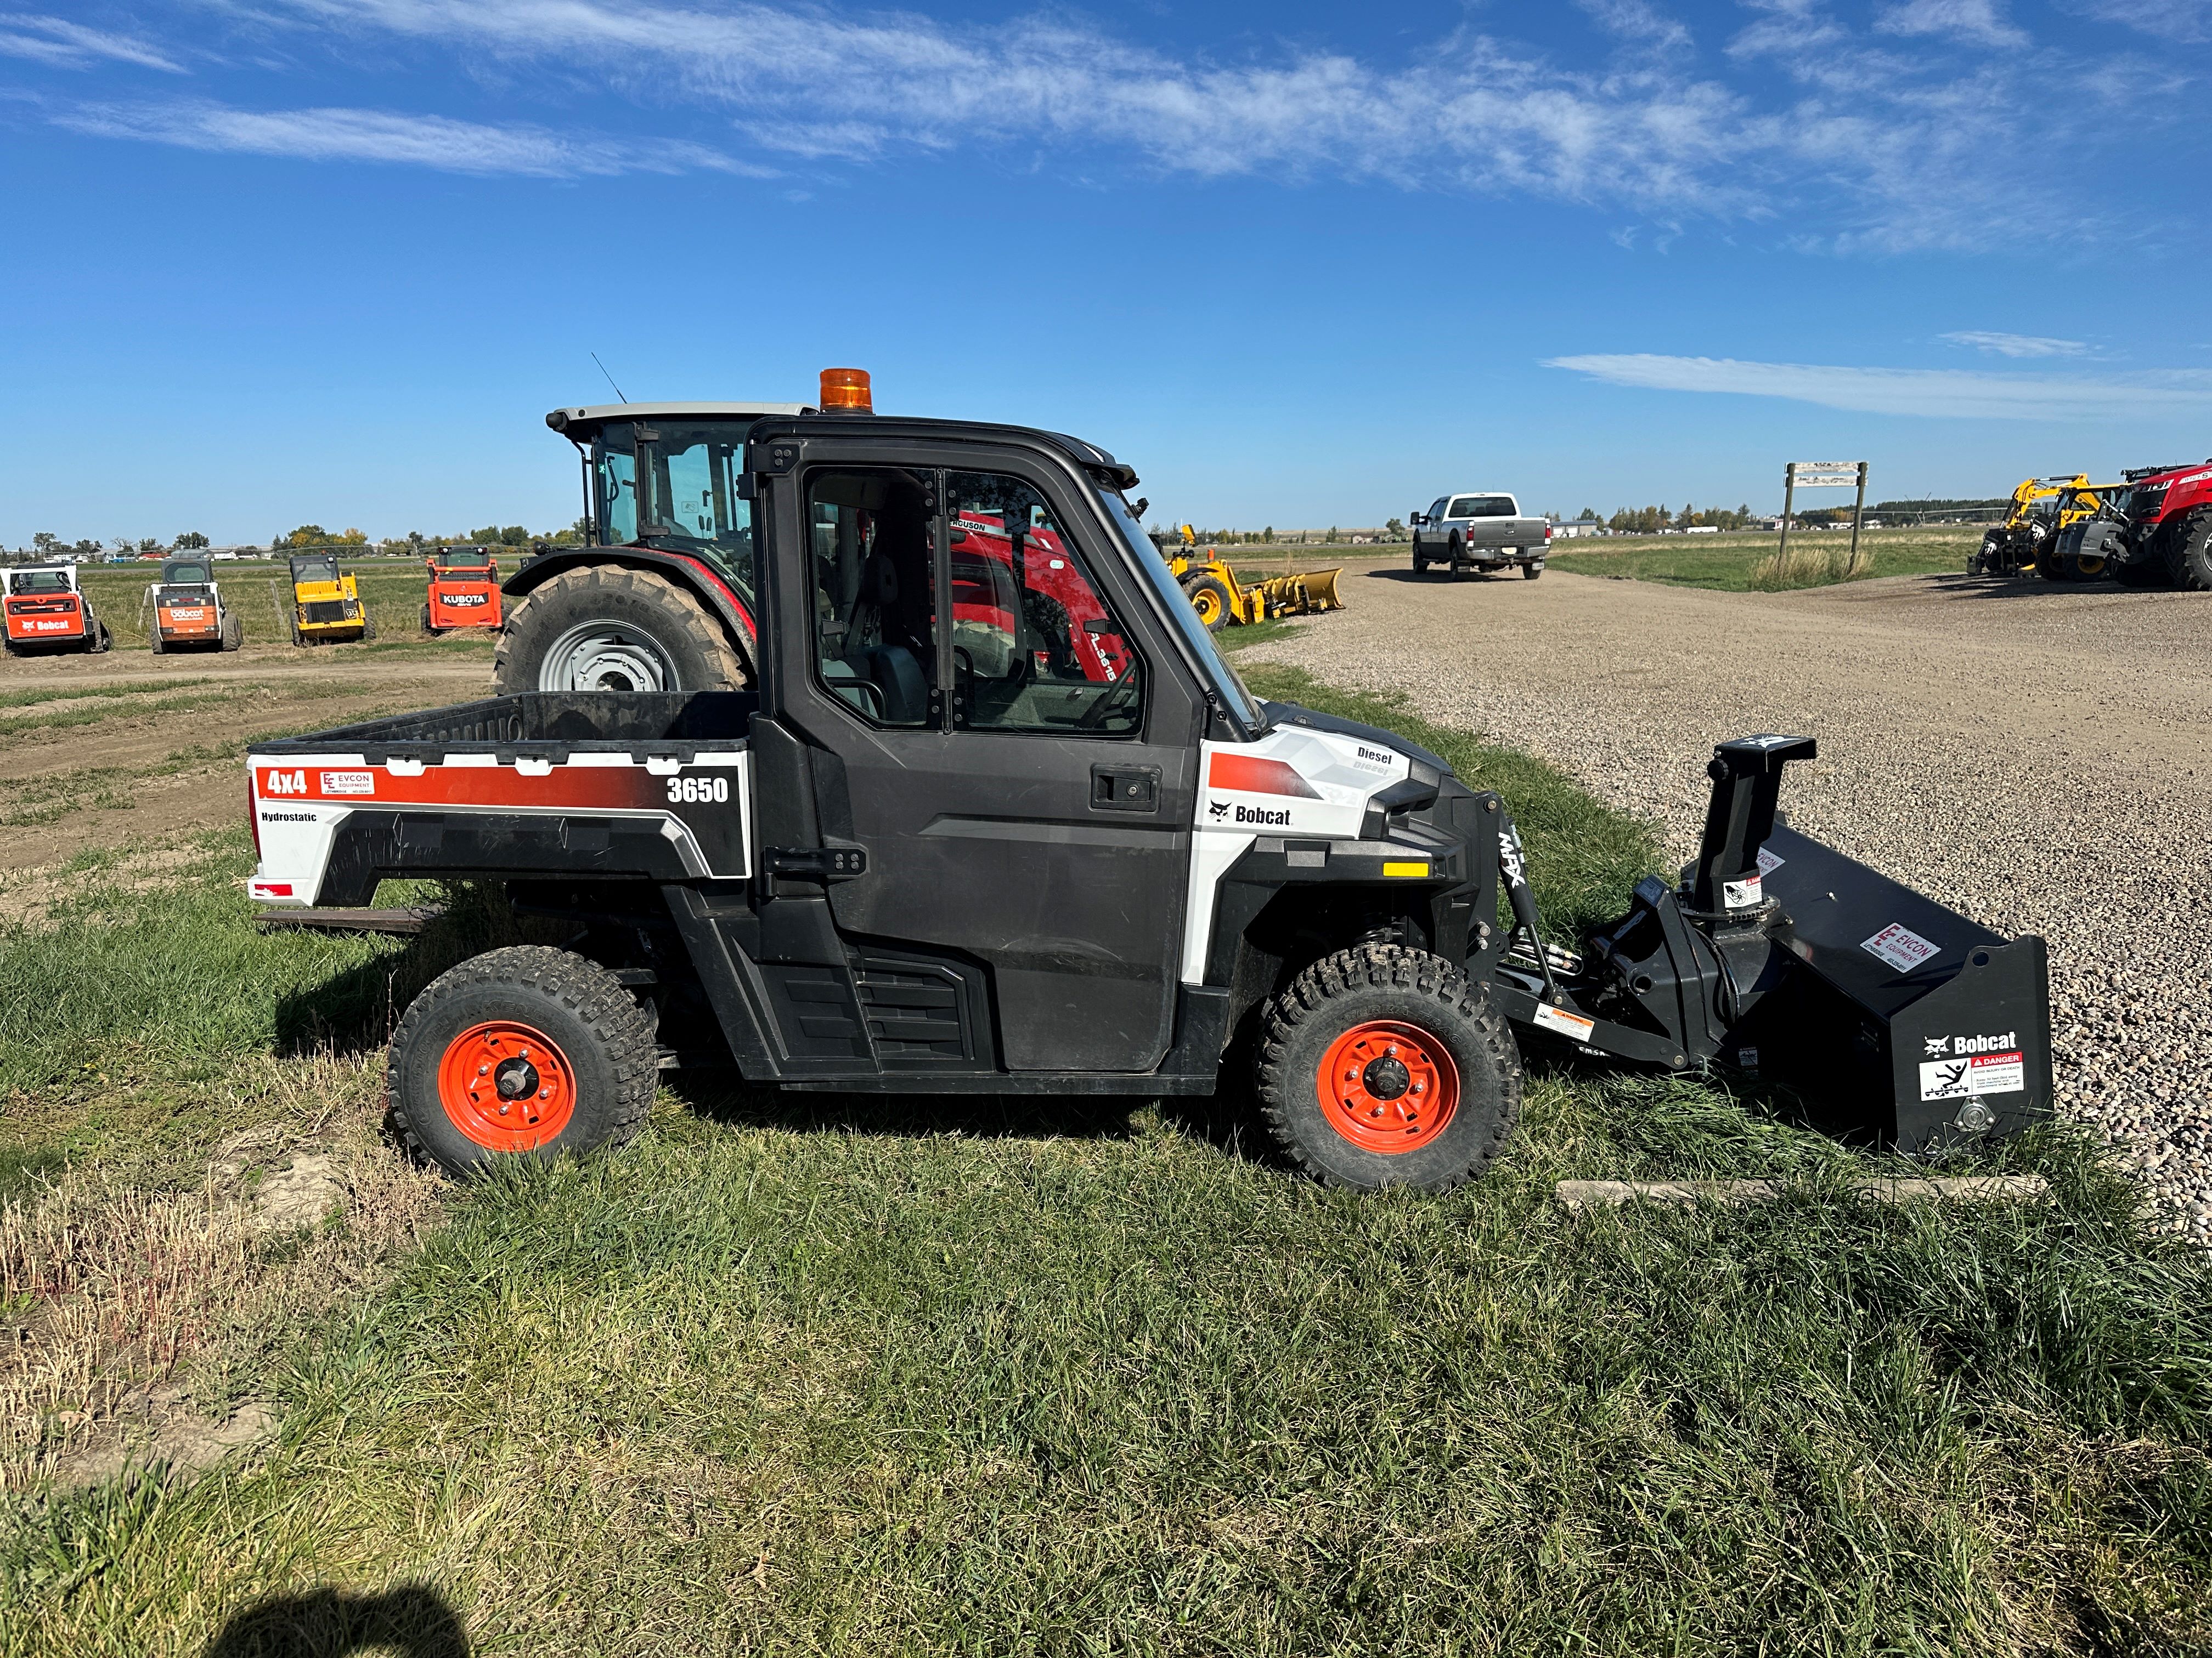
[[[1772,575],[1778,537],[1772,531],[1743,535],[1608,535],[1562,542],[1548,564],[1575,575],[1617,575],[1635,581],[1672,581],[1686,588],[1745,592],[1754,588],[1829,586],[1843,577],[1849,533],[1792,531],[1790,575]],[[1982,544],[1978,524],[1931,524],[1927,528],[1867,531],[1858,539],[1860,570],[1854,579],[1882,575],[1938,575],[1966,568],[1966,555]]]

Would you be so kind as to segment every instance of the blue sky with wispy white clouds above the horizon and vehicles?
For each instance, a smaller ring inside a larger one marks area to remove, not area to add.
[[[9,546],[564,524],[591,351],[1208,524],[2212,453],[2212,0],[7,4]]]

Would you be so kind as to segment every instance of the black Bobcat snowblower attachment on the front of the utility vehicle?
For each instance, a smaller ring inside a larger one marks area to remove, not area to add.
[[[1502,860],[1515,928],[1500,1006],[1590,1052],[1783,1081],[1905,1152],[2048,1116],[2044,942],[2004,940],[1776,822],[1783,767],[1814,752],[1809,736],[1721,743],[1681,884],[1646,878],[1584,957],[1522,942],[1535,911]]]

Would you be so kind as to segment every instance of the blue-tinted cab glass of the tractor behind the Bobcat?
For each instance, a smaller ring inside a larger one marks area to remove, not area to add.
[[[750,420],[655,420],[602,431],[591,447],[599,544],[690,553],[752,606],[752,502],[739,500],[750,431]]]

